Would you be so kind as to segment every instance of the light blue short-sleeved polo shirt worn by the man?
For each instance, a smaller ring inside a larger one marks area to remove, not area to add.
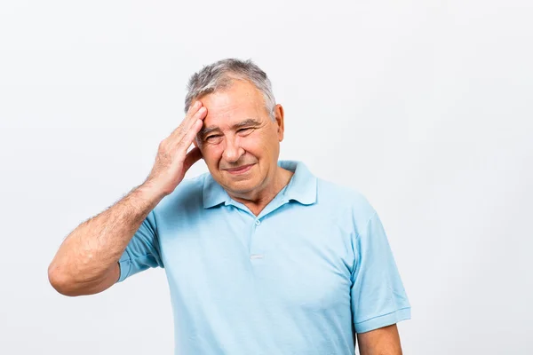
[[[211,174],[150,212],[120,279],[164,267],[176,354],[354,354],[363,333],[410,319],[383,225],[361,193],[302,162],[258,217]]]

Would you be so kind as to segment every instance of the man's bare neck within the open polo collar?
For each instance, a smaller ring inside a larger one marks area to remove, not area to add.
[[[274,197],[282,191],[283,187],[289,184],[290,177],[293,174],[294,172],[290,170],[276,167],[274,177],[261,190],[253,191],[246,195],[230,194],[230,197],[235,201],[243,203],[255,216],[259,216],[259,213],[267,207],[267,204],[274,200]]]

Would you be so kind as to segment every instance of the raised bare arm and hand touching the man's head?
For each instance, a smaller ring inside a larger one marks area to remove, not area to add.
[[[174,191],[187,170],[202,158],[195,147],[207,109],[197,101],[179,127],[163,139],[147,181],[113,207],[85,221],[70,233],[48,267],[48,279],[66,296],[99,293],[119,278],[118,261],[133,235],[163,197]]]

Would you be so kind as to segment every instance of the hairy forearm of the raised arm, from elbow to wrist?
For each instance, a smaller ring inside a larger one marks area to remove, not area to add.
[[[154,187],[140,185],[111,208],[79,225],[63,241],[50,264],[52,286],[70,294],[97,287],[163,197]]]

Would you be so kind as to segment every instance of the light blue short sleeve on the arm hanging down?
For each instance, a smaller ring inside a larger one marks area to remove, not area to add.
[[[351,289],[355,332],[410,319],[410,303],[377,213],[355,238]]]

